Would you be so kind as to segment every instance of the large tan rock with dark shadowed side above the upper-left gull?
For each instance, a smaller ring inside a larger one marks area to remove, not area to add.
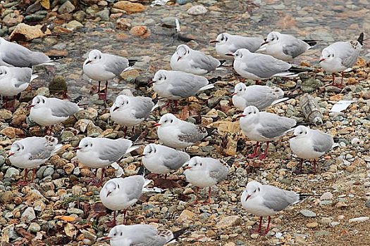
[[[32,40],[37,39],[40,37],[45,37],[47,35],[50,35],[51,32],[49,29],[47,29],[45,32],[42,32],[41,30],[42,25],[26,25],[24,23],[20,23],[16,26],[16,29],[11,32],[11,35],[9,36],[10,41],[14,40]]]

